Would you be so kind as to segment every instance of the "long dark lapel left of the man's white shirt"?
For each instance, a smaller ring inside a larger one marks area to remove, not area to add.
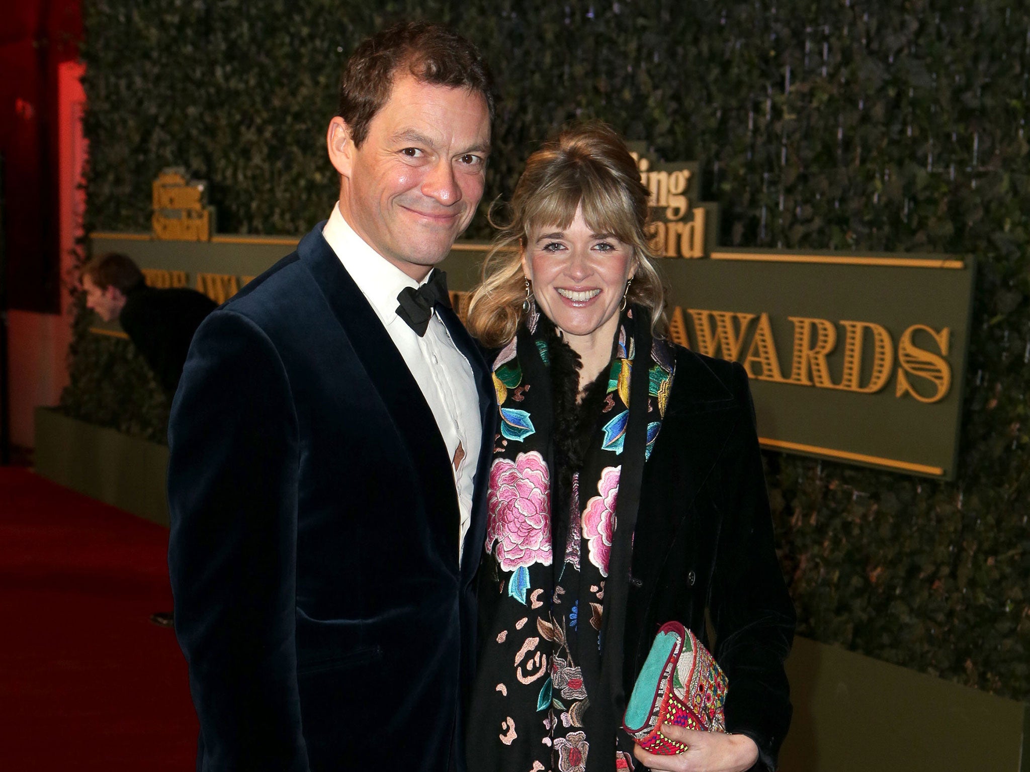
[[[422,391],[372,306],[322,238],[319,222],[298,245],[330,308],[347,335],[421,481],[438,548],[454,554],[459,511],[447,446]]]

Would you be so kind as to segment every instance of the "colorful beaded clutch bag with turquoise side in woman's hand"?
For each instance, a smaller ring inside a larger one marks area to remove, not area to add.
[[[682,753],[686,746],[665,737],[662,724],[725,732],[726,687],[726,676],[696,636],[679,622],[666,622],[637,677],[622,727],[648,752]]]

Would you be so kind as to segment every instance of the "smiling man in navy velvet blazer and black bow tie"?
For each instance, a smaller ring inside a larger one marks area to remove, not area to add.
[[[482,197],[491,114],[445,28],[362,43],[328,222],[198,330],[168,490],[199,770],[465,767],[495,408],[434,266]]]

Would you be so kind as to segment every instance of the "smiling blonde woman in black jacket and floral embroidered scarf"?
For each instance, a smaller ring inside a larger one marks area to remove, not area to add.
[[[748,380],[674,346],[645,236],[648,190],[603,125],[530,156],[469,327],[500,349],[501,433],[479,573],[471,772],[772,769],[794,629]],[[706,630],[706,609],[715,639]],[[621,730],[659,626],[713,648],[731,734]]]

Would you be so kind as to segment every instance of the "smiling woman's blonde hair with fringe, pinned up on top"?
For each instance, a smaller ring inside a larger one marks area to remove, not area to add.
[[[665,331],[665,290],[648,243],[650,191],[625,143],[600,122],[563,130],[529,156],[515,185],[511,220],[499,229],[486,259],[482,282],[469,303],[469,330],[487,347],[503,346],[518,329],[523,316],[525,277],[522,252],[539,227],[569,227],[582,205],[583,218],[594,233],[613,234],[633,248],[637,273],[628,303],[651,312],[655,335]]]

